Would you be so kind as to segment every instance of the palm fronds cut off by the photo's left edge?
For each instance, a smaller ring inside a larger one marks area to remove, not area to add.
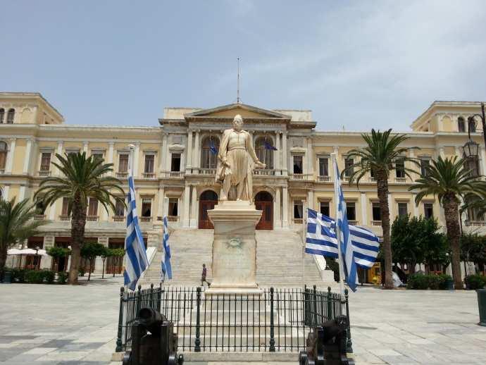
[[[46,223],[34,221],[36,214],[35,205],[30,204],[28,199],[17,204],[15,197],[0,199],[0,272],[4,270],[8,248],[35,235],[37,228]]]

